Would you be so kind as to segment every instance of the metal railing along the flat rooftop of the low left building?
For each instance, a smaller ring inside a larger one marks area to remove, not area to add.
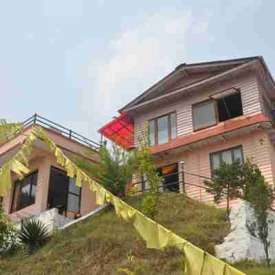
[[[67,129],[66,127],[62,126],[61,124],[52,122],[51,120],[48,120],[47,118],[43,118],[41,115],[37,115],[36,113],[34,113],[34,115],[32,115],[30,118],[28,118],[28,120],[25,120],[23,122],[24,127],[27,127],[27,126],[30,126],[33,124],[43,126],[47,129],[52,129],[53,131],[56,131],[57,133],[61,133],[61,135],[68,137],[69,140],[74,140],[76,142],[79,142],[81,144],[89,146],[96,151],[98,151],[98,149],[100,148],[99,143],[94,142],[93,140],[90,140],[89,138],[84,137],[83,135],[80,135],[79,133],[76,133],[75,131],[72,131],[72,129]]]

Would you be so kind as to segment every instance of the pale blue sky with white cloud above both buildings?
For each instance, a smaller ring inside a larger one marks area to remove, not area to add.
[[[263,56],[275,1],[0,0],[0,119],[34,113],[100,140],[118,109],[180,63]]]

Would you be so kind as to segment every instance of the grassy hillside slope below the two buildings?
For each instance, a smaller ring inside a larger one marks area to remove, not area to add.
[[[140,199],[128,202],[140,208]],[[162,195],[156,221],[210,253],[230,230],[223,210],[178,194]],[[182,259],[175,249],[146,249],[131,223],[110,208],[55,234],[32,256],[16,254],[0,260],[0,274],[181,274]],[[238,267],[247,274],[274,274],[251,263]]]

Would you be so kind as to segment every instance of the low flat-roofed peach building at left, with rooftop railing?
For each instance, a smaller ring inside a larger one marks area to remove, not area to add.
[[[25,134],[37,124],[43,126],[67,157],[98,163],[100,144],[39,115],[33,115],[24,122],[22,133],[0,145],[0,166],[19,151],[21,142],[26,138]],[[41,140],[34,143],[30,170],[30,175],[22,180],[12,175],[12,190],[3,198],[4,210],[12,220],[32,217],[52,208],[58,208],[59,214],[75,219],[79,214],[87,214],[98,207],[94,193],[87,184],[83,184],[82,188],[77,187],[74,179],[67,177],[65,170],[56,163],[54,153]]]

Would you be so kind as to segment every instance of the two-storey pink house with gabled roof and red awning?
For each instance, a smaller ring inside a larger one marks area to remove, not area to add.
[[[198,186],[222,160],[249,157],[274,185],[274,100],[275,83],[261,56],[184,63],[126,104],[120,117],[99,132],[131,149],[148,122],[151,153],[165,176],[162,190],[185,188],[189,197],[211,203]],[[134,181],[146,189],[144,179]]]

